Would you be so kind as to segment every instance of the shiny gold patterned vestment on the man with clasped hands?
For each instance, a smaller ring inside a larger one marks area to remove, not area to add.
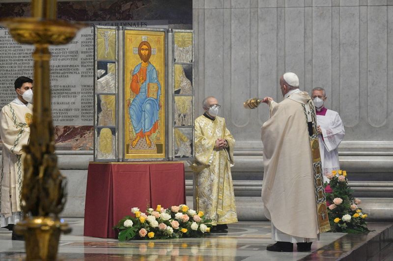
[[[225,139],[225,149],[215,148],[217,139]],[[230,167],[233,166],[235,139],[225,126],[225,119],[200,116],[195,120],[194,206],[212,224],[237,222],[235,195]]]

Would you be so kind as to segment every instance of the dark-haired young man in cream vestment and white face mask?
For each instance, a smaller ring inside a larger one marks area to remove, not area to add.
[[[17,97],[1,108],[0,136],[3,142],[0,179],[0,226],[12,230],[21,219],[20,195],[23,181],[23,146],[28,144],[32,121],[33,80],[15,80]],[[12,232],[12,239],[21,240]]]

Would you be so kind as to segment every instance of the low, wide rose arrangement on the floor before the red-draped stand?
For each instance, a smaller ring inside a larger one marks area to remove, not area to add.
[[[168,239],[180,237],[203,237],[210,232],[211,222],[203,212],[198,213],[187,205],[172,206],[164,209],[157,205],[146,213],[132,208],[134,216],[125,216],[113,229],[119,230],[119,240],[130,239]]]

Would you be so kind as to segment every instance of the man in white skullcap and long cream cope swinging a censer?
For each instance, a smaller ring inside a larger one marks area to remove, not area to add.
[[[310,251],[312,241],[330,230],[323,189],[318,133],[314,105],[299,90],[293,72],[280,78],[284,99],[271,97],[270,119],[263,123],[263,186],[265,215],[272,223],[272,239],[277,243],[268,251]]]

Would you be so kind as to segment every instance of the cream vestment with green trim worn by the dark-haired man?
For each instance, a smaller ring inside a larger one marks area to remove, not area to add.
[[[20,212],[24,153],[28,144],[32,105],[11,102],[0,112],[0,136],[3,142],[0,172],[0,214],[5,218]]]

